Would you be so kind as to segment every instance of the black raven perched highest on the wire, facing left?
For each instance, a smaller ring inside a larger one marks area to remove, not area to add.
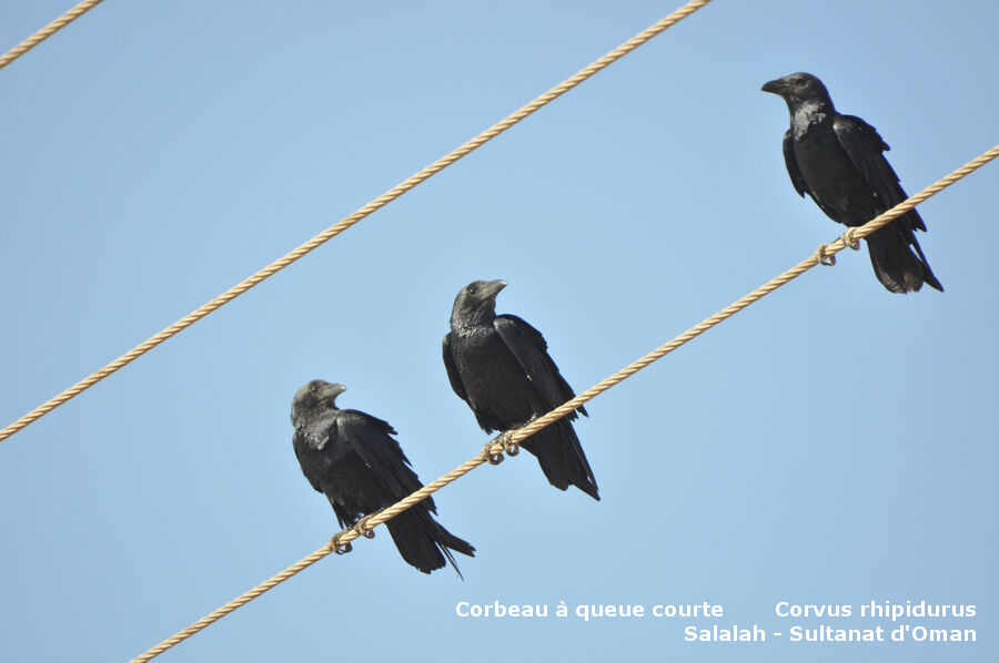
[[[793,73],[763,91],[781,96],[790,111],[784,159],[795,190],[810,195],[829,218],[864,225],[908,197],[882,154],[888,144],[860,118],[837,113],[820,80]],[[866,237],[875,274],[892,293],[916,292],[924,283],[944,290],[916,241],[917,230],[926,231],[926,224],[912,210]]]

